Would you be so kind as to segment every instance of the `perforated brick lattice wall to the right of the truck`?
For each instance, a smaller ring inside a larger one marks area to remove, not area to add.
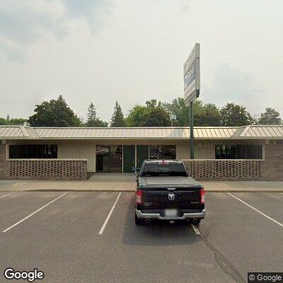
[[[196,180],[260,180],[260,160],[195,159],[183,160]]]

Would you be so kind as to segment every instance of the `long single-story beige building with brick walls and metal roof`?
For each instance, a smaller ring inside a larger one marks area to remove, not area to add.
[[[0,178],[79,180],[180,159],[199,180],[283,180],[283,125],[195,127],[0,126]]]

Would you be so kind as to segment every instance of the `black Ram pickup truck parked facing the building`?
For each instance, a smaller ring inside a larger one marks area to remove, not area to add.
[[[200,224],[205,212],[204,188],[189,177],[182,161],[144,161],[137,176],[137,225],[153,219]]]

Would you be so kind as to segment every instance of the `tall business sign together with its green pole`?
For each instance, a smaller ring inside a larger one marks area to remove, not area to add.
[[[194,159],[194,101],[200,96],[200,43],[196,43],[184,64],[185,106],[190,105],[190,158]]]

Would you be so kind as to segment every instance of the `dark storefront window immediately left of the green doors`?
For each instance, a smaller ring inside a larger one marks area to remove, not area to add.
[[[96,171],[122,172],[122,146],[96,146]]]

